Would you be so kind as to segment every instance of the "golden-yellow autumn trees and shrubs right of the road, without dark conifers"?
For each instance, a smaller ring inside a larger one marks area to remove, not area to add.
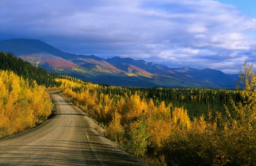
[[[153,156],[167,165],[255,165],[255,88],[241,91],[243,103],[232,101],[234,112],[226,108],[225,116],[215,112],[213,118],[209,112],[207,118],[202,115],[192,121],[184,107],[173,108],[164,101],[154,104],[140,91],[132,94],[122,87],[108,87],[119,91],[111,95],[103,85],[74,83],[70,78],[59,81],[64,95],[106,125],[109,139],[136,156]],[[196,98],[202,96],[190,99]]]

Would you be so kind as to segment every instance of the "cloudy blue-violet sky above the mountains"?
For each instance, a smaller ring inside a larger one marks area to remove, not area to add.
[[[255,8],[252,0],[0,0],[0,39],[238,73],[256,62]]]

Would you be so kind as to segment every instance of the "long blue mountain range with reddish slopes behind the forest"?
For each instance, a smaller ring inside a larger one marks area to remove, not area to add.
[[[235,88],[236,85],[234,76],[219,70],[170,68],[132,58],[103,59],[94,55],[75,55],[35,39],[2,40],[0,50],[13,53],[51,73],[100,84],[182,88]]]

